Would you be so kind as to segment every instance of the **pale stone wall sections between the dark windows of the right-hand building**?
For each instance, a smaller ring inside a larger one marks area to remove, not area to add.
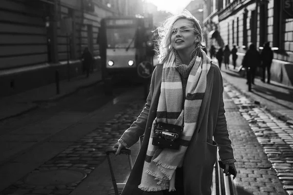
[[[286,86],[293,87],[293,19],[283,19],[282,20],[282,25],[281,25],[281,33],[274,32],[274,25],[277,25],[278,21],[274,21],[274,16],[275,14],[278,14],[281,10],[277,10],[274,12],[274,3],[280,3],[278,0],[270,0],[268,1],[267,5],[267,17],[265,18],[267,22],[267,26],[265,29],[265,40],[268,40],[271,42],[271,47],[273,46],[273,41],[275,39],[274,36],[280,36],[280,45],[279,45],[279,50],[274,51],[274,59],[272,62],[272,67],[271,67],[271,79],[273,81],[279,82],[281,84],[284,84]],[[247,9],[247,43],[244,42],[245,39],[245,30],[244,30],[244,21],[243,21],[243,13],[244,13],[244,8],[240,9],[237,12],[234,12],[233,14],[230,14],[229,17],[227,17],[225,20],[221,20],[219,22],[219,32],[221,38],[224,40],[225,44],[230,45],[230,49],[232,48],[232,20],[234,20],[234,42],[237,39],[237,17],[239,21],[239,31],[238,31],[238,59],[237,59],[237,65],[239,66],[242,62],[242,59],[246,53],[246,49],[244,49],[242,46],[249,46],[248,43],[250,43],[253,40],[253,29],[251,24],[253,24],[253,16],[251,15],[251,11],[255,10],[257,14],[256,18],[256,29],[254,31],[256,35],[255,43],[256,47],[258,48],[259,46],[262,46],[261,40],[260,40],[260,32],[262,29],[260,29],[261,24],[260,24],[260,8],[259,6],[256,9],[256,4],[251,3],[247,4],[246,9]],[[228,24],[229,24],[229,29],[228,29]],[[229,32],[229,36],[228,36]],[[229,41],[228,41],[229,37]],[[275,43],[274,43],[275,44]],[[231,57],[230,57],[231,60]],[[261,71],[257,73],[258,75],[261,75]]]

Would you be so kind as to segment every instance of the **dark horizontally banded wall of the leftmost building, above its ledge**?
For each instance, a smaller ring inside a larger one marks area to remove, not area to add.
[[[48,61],[47,31],[39,5],[1,0],[0,70]]]

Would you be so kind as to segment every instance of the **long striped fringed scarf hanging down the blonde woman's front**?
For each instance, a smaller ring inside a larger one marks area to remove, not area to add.
[[[196,50],[191,60],[194,64],[188,76],[184,109],[182,82],[175,68],[175,53],[170,54],[163,65],[157,117],[152,124],[142,180],[138,186],[143,191],[175,190],[175,171],[183,165],[184,155],[195,131],[210,68],[206,53],[200,47]],[[152,145],[156,120],[180,126],[184,124],[179,150],[159,149]]]

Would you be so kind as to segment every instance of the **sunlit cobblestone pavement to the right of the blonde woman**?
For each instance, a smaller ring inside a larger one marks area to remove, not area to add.
[[[238,160],[238,195],[292,195],[293,126],[273,117],[228,83],[225,91],[226,117]]]

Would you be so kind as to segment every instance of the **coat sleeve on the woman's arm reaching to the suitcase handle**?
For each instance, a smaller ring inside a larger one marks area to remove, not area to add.
[[[135,144],[139,137],[144,135],[145,129],[146,129],[146,121],[149,113],[149,108],[151,104],[152,95],[154,92],[154,80],[156,75],[156,68],[153,71],[152,78],[151,78],[151,84],[149,87],[149,94],[146,98],[146,104],[141,112],[141,114],[137,117],[136,121],[132,123],[132,125],[124,132],[122,137],[119,139],[120,142],[122,142],[126,147],[130,147],[133,144]]]

